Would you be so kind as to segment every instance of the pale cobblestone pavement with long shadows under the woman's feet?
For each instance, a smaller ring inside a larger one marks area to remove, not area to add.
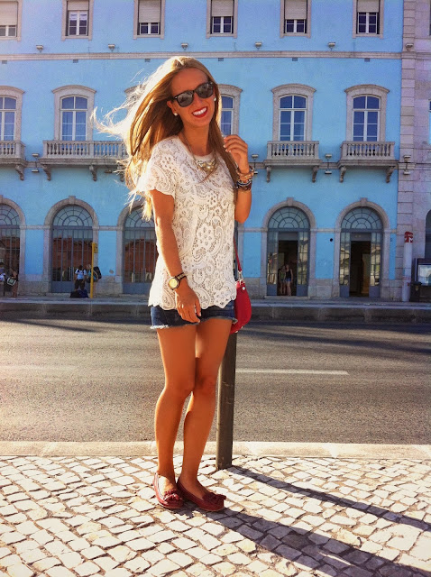
[[[219,513],[157,506],[155,463],[0,457],[0,577],[431,575],[429,462],[205,456]]]

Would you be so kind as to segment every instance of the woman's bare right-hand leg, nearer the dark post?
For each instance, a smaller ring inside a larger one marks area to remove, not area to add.
[[[184,422],[184,458],[181,483],[202,499],[206,489],[197,481],[206,440],[216,410],[216,380],[231,323],[212,318],[197,326],[195,388],[188,403]]]

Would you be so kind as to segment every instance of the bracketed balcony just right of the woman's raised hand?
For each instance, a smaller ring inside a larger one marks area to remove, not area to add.
[[[321,160],[319,159],[319,143],[317,141],[270,141],[268,142],[266,159],[263,166],[267,172],[267,182],[271,179],[273,167],[311,167],[313,182]]]

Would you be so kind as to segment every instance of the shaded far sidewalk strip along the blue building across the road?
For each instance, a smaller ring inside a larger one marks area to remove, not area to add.
[[[0,296],[0,316],[150,318],[147,298],[134,295],[69,298],[67,294],[43,297]],[[275,297],[252,300],[253,320],[430,323],[431,303],[401,303],[369,298],[312,299]]]

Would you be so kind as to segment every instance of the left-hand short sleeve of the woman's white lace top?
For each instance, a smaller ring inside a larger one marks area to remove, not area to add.
[[[166,195],[175,198],[177,185],[177,168],[168,142],[159,142],[152,150],[151,158],[138,179],[136,188],[146,192],[156,188]]]

